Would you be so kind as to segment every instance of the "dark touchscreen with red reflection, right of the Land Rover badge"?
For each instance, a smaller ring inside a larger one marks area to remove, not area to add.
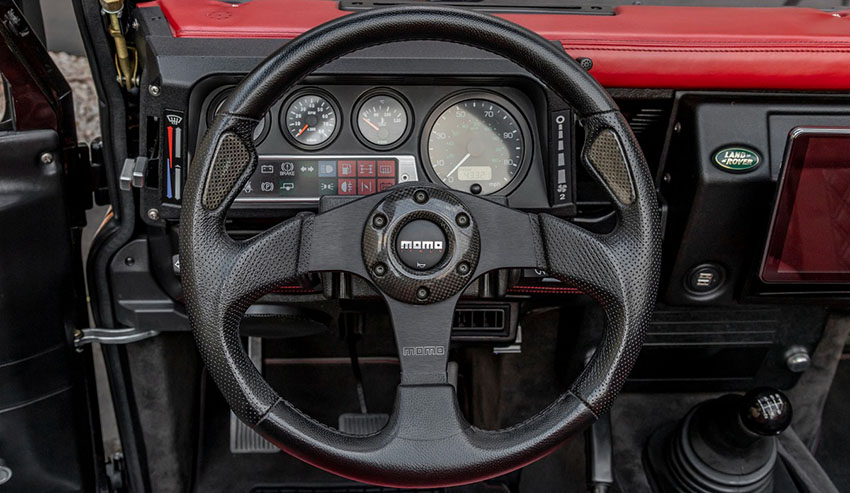
[[[761,277],[850,282],[850,128],[791,132]]]

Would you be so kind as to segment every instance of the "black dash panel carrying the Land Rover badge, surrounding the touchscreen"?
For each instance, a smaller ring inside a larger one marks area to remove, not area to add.
[[[798,126],[842,126],[846,95],[680,91],[659,189],[669,204],[660,299],[671,305],[737,302],[846,306],[846,285],[767,284],[762,254],[789,132]],[[676,130],[678,128],[678,130]],[[711,162],[717,149],[741,144],[764,162],[728,173]],[[724,282],[695,293],[685,280],[697,266],[720,266]]]

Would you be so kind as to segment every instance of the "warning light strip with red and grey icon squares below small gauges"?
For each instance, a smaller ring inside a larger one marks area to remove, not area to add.
[[[240,202],[371,195],[416,179],[412,156],[260,156]]]

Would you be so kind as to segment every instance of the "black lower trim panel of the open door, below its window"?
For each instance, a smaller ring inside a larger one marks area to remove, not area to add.
[[[12,471],[4,491],[92,489],[82,473],[89,439],[79,436],[85,392],[69,323],[75,252],[60,148],[52,130],[0,133],[0,460]]]

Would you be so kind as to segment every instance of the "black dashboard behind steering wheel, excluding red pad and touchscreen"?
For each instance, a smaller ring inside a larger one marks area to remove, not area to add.
[[[285,40],[180,37],[159,8],[138,16],[141,87],[159,91],[140,94],[145,162],[131,174],[144,177],[142,221],[179,228],[195,146],[229,91]],[[594,76],[600,60],[588,61]],[[656,178],[664,302],[840,299],[841,283],[792,286],[766,282],[760,271],[789,132],[846,126],[842,95],[607,89]],[[413,180],[567,217],[597,233],[616,224],[580,164],[583,130],[568,105],[513,62],[469,46],[410,41],[345,55],[281,94],[254,137],[260,162],[228,212],[228,228],[245,235],[320,210],[325,199]],[[722,165],[723,156],[738,155],[753,166]],[[527,284],[534,295],[550,292],[538,280]]]

